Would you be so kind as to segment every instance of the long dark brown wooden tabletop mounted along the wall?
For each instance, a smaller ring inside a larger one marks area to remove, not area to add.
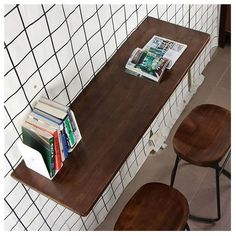
[[[153,35],[188,47],[158,84],[125,72]],[[82,141],[50,181],[22,161],[12,176],[86,216],[209,41],[209,35],[148,17],[73,102]]]

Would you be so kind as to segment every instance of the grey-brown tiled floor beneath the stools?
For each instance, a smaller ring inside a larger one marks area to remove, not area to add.
[[[135,176],[126,187],[119,200],[109,212],[104,222],[97,230],[113,230],[114,224],[123,207],[131,196],[145,183],[162,182],[169,184],[170,175],[175,162],[172,148],[172,137],[183,118],[197,105],[214,103],[230,110],[230,47],[218,48],[212,61],[207,65],[203,74],[206,79],[198,92],[186,106],[182,115],[174,125],[168,139],[167,148],[155,154],[150,154]],[[215,172],[210,168],[185,165],[180,162],[174,187],[187,198],[190,212],[202,216],[216,216]],[[226,169],[230,170],[230,162]],[[189,220],[191,230],[230,230],[231,229],[231,183],[224,175],[220,177],[221,185],[221,219],[212,224]]]

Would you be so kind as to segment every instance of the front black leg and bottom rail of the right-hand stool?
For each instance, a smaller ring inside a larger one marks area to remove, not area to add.
[[[217,201],[217,218],[205,218],[200,216],[195,216],[190,214],[189,218],[191,220],[201,221],[205,223],[213,223],[218,221],[221,218],[221,210],[220,210],[220,171],[219,168],[215,168],[216,171],[216,201]]]

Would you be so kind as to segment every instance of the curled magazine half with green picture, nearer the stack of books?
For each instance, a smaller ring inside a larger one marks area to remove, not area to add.
[[[136,48],[126,64],[126,69],[132,75],[159,81],[168,64],[169,60],[160,57],[155,48]]]

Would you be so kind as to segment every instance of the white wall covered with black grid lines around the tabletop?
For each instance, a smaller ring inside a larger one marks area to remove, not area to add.
[[[217,45],[216,5],[5,6],[4,220],[7,230],[93,229],[140,168],[139,157],[145,152],[148,135],[139,143],[142,148],[133,151],[87,217],[78,216],[10,177],[21,160],[17,148],[20,124],[35,101],[46,96],[70,105],[147,16],[211,34],[203,62],[196,62],[192,69],[195,76],[201,73],[211,48]],[[185,88],[182,86],[182,91]],[[177,100],[176,96],[176,104]]]

